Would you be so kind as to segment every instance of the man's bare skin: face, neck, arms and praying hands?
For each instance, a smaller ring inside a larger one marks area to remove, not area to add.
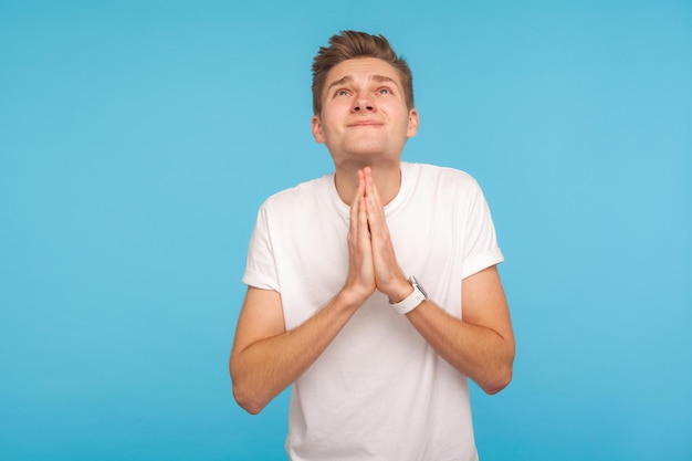
[[[328,347],[375,291],[392,302],[413,287],[397,263],[384,207],[401,185],[400,157],[418,130],[400,78],[388,63],[344,61],[327,74],[322,114],[312,119],[317,143],[335,165],[336,189],[350,205],[348,275],[343,289],[314,316],[286,331],[280,293],[250,286],[231,352],[238,404],[251,413],[295,381]],[[406,314],[430,346],[489,394],[512,379],[514,336],[496,266],[461,281],[463,321],[431,301]]]

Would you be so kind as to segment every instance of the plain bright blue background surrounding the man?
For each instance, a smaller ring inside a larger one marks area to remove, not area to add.
[[[256,209],[332,170],[310,65],[413,69],[405,159],[482,185],[512,385],[483,460],[692,459],[692,2],[0,1],[0,452],[282,459],[227,360]]]

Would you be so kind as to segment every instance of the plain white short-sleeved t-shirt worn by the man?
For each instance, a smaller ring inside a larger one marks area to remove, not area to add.
[[[385,207],[397,261],[461,317],[461,280],[503,261],[481,189],[463,171],[401,164]],[[243,282],[281,293],[292,329],[343,287],[349,207],[327,175],[261,207]],[[476,460],[466,377],[376,292],[294,383],[292,460]]]

